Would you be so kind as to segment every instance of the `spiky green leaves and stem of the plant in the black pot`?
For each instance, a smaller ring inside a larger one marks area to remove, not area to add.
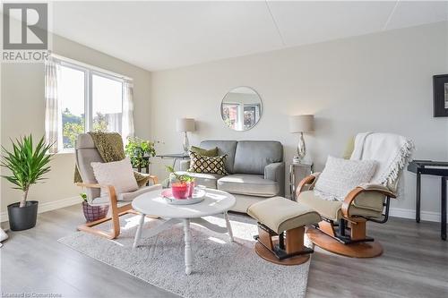
[[[11,175],[2,175],[4,179],[17,187],[13,189],[23,192],[19,207],[25,207],[30,186],[44,180],[42,176],[50,171],[48,163],[52,155],[47,154],[52,144],[46,144],[44,137],[33,148],[32,136],[22,137],[20,140],[11,140],[13,150],[9,151],[2,146],[2,161],[4,166],[11,171]]]

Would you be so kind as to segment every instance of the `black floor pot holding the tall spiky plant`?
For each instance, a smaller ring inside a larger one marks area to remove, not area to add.
[[[12,231],[28,230],[36,226],[38,219],[37,200],[27,200],[24,207],[19,207],[20,203],[8,205],[9,226]]]

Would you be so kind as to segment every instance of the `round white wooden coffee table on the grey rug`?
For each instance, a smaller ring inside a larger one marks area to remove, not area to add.
[[[204,226],[211,231],[217,233],[228,233],[230,241],[233,242],[232,227],[228,220],[228,209],[232,208],[235,203],[235,197],[228,192],[218,190],[204,189],[206,192],[205,199],[200,203],[191,205],[171,205],[162,198],[161,190],[144,193],[133,200],[134,210],[140,212],[139,226],[135,233],[134,248],[138,246],[142,238],[142,226],[145,216],[161,217],[164,222],[159,226],[148,229],[144,233],[144,237],[152,237],[159,234],[173,225],[183,223],[185,234],[185,273],[189,275],[193,268],[193,257],[191,249],[191,232],[190,223]],[[226,220],[226,227],[212,224],[202,217],[222,214]]]

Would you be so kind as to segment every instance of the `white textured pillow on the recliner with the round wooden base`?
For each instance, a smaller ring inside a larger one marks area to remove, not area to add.
[[[314,193],[325,200],[344,200],[359,184],[370,182],[375,169],[375,160],[348,160],[329,156],[314,185]]]

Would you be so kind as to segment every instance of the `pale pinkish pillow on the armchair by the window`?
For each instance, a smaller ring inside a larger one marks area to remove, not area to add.
[[[110,163],[90,163],[99,184],[114,185],[116,194],[134,192],[138,189],[133,166],[129,158]],[[101,197],[108,196],[108,188],[101,188]]]

